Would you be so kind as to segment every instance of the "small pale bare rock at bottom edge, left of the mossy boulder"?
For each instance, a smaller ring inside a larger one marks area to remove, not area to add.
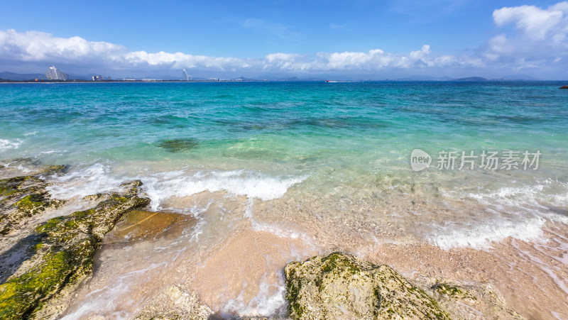
[[[170,286],[146,304],[136,319],[208,319],[213,311],[193,292]]]

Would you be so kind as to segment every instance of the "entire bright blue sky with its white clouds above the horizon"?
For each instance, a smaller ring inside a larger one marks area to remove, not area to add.
[[[0,71],[57,64],[114,77],[178,75],[185,67],[210,77],[371,79],[564,79],[567,71],[561,1],[2,0],[0,7]]]

